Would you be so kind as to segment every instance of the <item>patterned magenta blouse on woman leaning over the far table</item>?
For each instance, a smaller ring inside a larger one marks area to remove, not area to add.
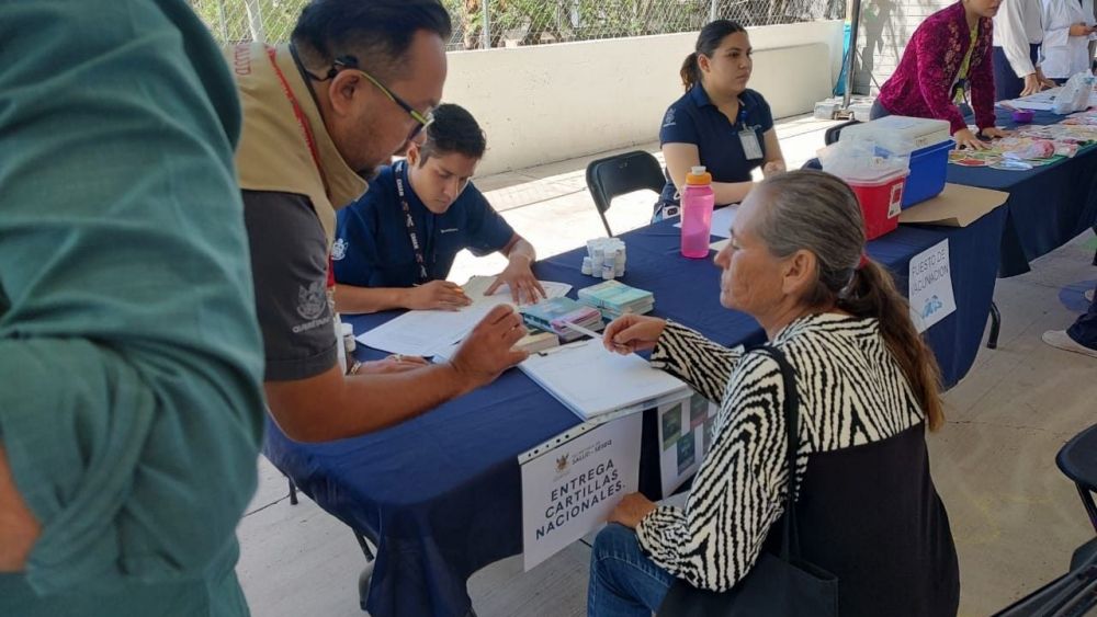
[[[994,126],[992,23],[988,18],[980,20],[968,70],[971,106],[980,130]],[[970,42],[971,30],[964,18],[963,2],[926,18],[907,43],[898,68],[880,89],[880,104],[895,115],[947,119],[952,125],[952,133],[966,128],[963,114],[952,102],[952,84]]]

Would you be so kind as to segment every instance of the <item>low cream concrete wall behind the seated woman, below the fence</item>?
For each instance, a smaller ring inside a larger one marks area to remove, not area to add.
[[[750,88],[776,117],[806,113],[840,71],[842,24],[750,30]],[[454,52],[444,100],[468,108],[487,133],[477,173],[580,157],[658,139],[681,95],[678,69],[697,33]]]

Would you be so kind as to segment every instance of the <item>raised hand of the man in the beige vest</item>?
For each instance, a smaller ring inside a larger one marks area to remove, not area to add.
[[[512,349],[524,335],[522,317],[513,307],[499,305],[491,309],[450,361],[450,366],[464,378],[466,391],[490,384],[504,370],[525,359],[528,353]]]

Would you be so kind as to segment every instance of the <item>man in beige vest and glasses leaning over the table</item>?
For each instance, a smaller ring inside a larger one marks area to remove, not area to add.
[[[445,364],[355,363],[344,374],[328,302],[335,210],[430,122],[450,18],[438,0],[314,0],[289,45],[227,59],[244,104],[237,152],[271,414],[298,441],[376,431],[494,380],[524,359],[499,307]]]

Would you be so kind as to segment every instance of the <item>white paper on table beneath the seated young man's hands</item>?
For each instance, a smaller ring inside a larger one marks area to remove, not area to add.
[[[494,276],[473,276],[462,287],[473,304],[461,310],[409,310],[373,330],[359,334],[363,345],[394,354],[430,357],[452,347],[498,305],[513,305],[510,287],[502,285],[490,296],[484,293]],[[572,286],[542,281],[550,298],[567,295]]]

